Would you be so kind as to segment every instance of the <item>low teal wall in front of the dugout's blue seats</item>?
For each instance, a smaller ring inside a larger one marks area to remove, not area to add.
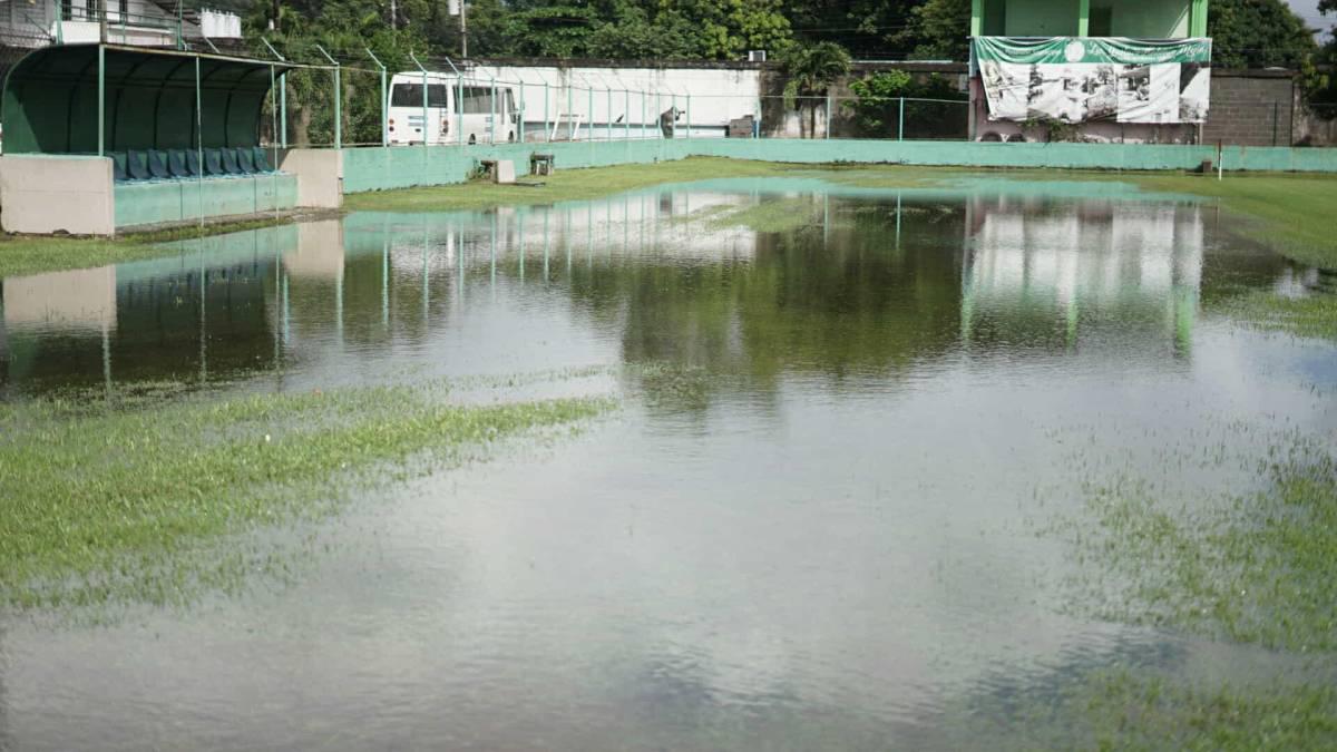
[[[286,174],[118,183],[112,190],[116,227],[197,219],[201,206],[205,217],[254,214],[297,206],[297,177]]]

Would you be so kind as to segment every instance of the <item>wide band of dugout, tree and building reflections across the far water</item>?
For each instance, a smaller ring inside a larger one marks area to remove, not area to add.
[[[1205,266],[1194,203],[806,187],[358,213],[8,278],[0,388],[318,379],[376,359],[447,375],[666,360],[765,391],[789,371],[838,381],[1083,343],[1173,368],[1215,281],[1292,273],[1259,253]],[[786,231],[729,221],[773,202]]]

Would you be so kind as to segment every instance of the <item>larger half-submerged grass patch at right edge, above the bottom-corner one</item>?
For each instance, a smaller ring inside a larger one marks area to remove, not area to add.
[[[1281,438],[1265,490],[1174,507],[1143,483],[1090,488],[1063,526],[1091,573],[1079,594],[1104,617],[1297,652],[1337,652],[1337,456]]]

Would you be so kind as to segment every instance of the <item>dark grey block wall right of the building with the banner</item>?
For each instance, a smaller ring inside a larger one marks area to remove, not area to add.
[[[1297,87],[1289,71],[1211,71],[1203,143],[1289,146]]]

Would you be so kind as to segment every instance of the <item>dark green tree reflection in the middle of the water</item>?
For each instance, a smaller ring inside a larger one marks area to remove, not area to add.
[[[822,211],[813,197],[813,211]],[[782,376],[838,387],[886,377],[952,348],[960,329],[963,217],[943,206],[830,202],[832,222],[759,233],[751,260],[644,260],[572,276],[572,296],[623,325],[623,359],[701,369],[710,383],[773,393]],[[897,240],[898,238],[898,240]],[[705,407],[710,388],[681,391]],[[742,381],[737,381],[742,379]]]

